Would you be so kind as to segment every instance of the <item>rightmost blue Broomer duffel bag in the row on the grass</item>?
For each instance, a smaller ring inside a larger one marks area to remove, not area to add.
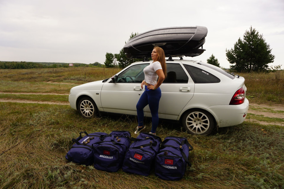
[[[186,170],[189,151],[193,148],[184,137],[168,136],[155,159],[155,175],[163,180],[180,180]]]

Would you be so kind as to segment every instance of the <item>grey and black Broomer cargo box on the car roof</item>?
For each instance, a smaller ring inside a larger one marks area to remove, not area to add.
[[[169,56],[198,56],[205,49],[207,28],[201,26],[166,27],[141,33],[131,38],[123,47],[127,58],[151,57],[154,46],[159,46]],[[200,48],[201,47],[201,48]]]

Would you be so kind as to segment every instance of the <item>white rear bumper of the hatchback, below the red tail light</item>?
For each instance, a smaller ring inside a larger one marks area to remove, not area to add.
[[[240,105],[218,105],[206,109],[215,118],[217,126],[228,127],[243,123],[249,110],[249,100]]]

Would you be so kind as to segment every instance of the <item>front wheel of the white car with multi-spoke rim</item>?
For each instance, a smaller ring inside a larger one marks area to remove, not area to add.
[[[79,101],[78,110],[83,118],[92,118],[97,114],[96,104],[90,97],[83,97]]]

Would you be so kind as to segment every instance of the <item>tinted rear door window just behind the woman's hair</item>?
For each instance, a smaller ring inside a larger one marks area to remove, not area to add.
[[[188,83],[188,76],[180,64],[167,63],[167,77],[163,83]]]

